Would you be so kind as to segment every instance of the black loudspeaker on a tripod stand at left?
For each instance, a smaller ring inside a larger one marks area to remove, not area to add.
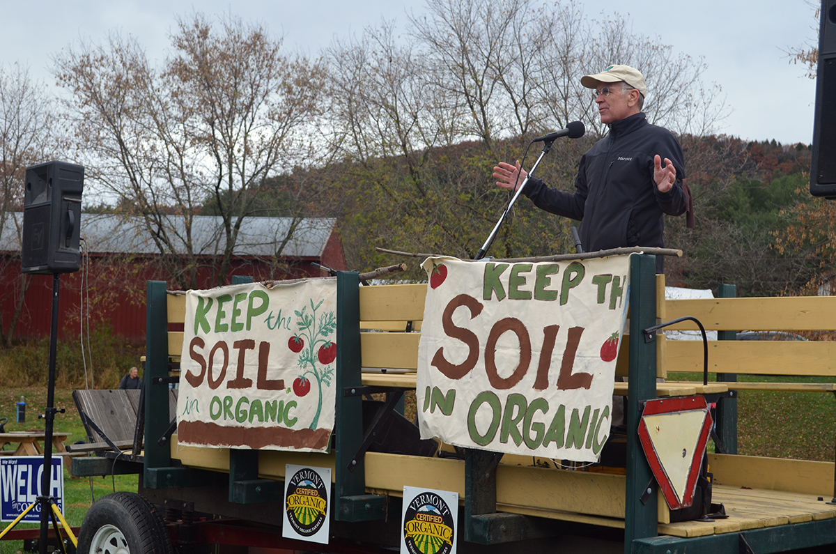
[[[83,166],[48,162],[26,168],[23,273],[55,274],[79,270],[83,190]]]

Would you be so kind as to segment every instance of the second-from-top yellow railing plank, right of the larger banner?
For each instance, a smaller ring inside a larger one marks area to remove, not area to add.
[[[667,341],[669,375],[702,372],[702,357],[702,341]],[[836,377],[836,342],[708,341],[708,371]]]

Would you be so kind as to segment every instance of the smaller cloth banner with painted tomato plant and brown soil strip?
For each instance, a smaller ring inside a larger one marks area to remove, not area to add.
[[[334,279],[190,290],[179,444],[324,452],[334,428]]]

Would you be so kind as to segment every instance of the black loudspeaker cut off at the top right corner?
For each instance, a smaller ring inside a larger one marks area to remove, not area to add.
[[[810,194],[836,198],[836,0],[822,0]]]

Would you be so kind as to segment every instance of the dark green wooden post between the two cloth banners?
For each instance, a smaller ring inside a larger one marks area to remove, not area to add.
[[[386,499],[365,493],[364,457],[354,460],[363,443],[363,398],[345,395],[360,387],[360,295],[359,273],[337,272],[337,375],[336,421],[334,422],[334,490],[337,521],[371,521],[385,518]]]

